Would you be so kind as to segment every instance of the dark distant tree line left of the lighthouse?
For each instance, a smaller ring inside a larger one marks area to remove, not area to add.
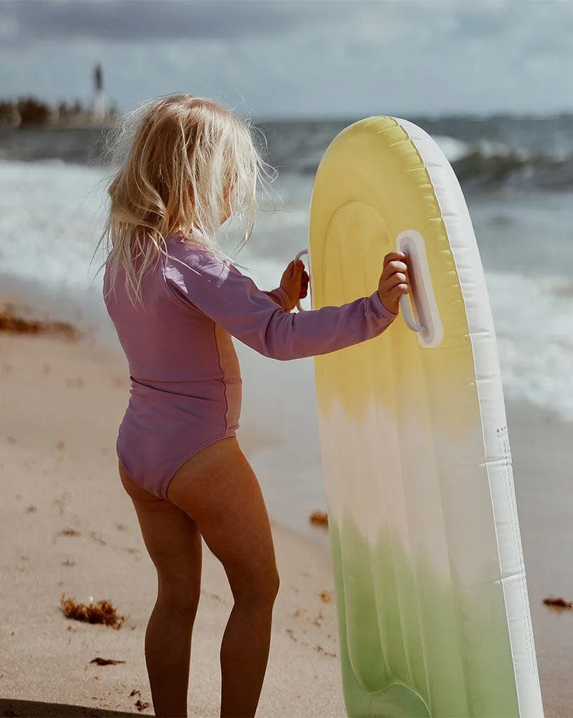
[[[109,115],[116,113],[115,107],[108,111]],[[0,100],[0,128],[88,124],[92,119],[92,111],[80,101],[51,105],[32,96],[15,101]]]

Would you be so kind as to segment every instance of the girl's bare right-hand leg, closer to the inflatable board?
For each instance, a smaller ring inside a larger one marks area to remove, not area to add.
[[[197,454],[173,477],[169,500],[197,522],[223,564],[234,605],[221,645],[221,716],[251,718],[269,657],[279,590],[269,517],[236,439]]]

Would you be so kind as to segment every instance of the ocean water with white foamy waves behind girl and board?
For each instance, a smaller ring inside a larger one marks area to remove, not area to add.
[[[573,121],[418,122],[434,132],[462,179],[506,397],[573,421]],[[276,286],[307,246],[312,174],[345,124],[263,125],[279,180],[238,256],[259,286]],[[103,255],[93,256],[110,172],[88,163],[97,137],[85,130],[0,134],[0,290],[117,347],[101,301]],[[271,516],[304,528],[309,510],[324,505],[312,360],[279,363],[238,351],[241,442]]]

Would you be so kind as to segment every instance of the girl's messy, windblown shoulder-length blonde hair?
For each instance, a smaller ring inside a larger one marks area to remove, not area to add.
[[[141,280],[177,231],[222,255],[218,230],[230,216],[242,225],[239,248],[248,242],[257,188],[269,177],[251,130],[218,102],[182,93],[141,106],[118,126],[102,236],[111,287],[124,269],[131,301],[142,302]]]

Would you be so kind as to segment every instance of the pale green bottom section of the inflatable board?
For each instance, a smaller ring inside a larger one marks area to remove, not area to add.
[[[349,716],[518,718],[499,584],[477,604],[391,533],[371,546],[350,520],[330,522],[330,541]]]

